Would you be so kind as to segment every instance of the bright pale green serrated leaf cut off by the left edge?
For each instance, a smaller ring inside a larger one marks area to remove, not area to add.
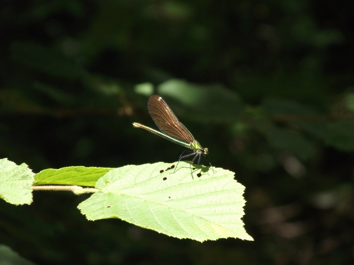
[[[0,159],[0,198],[12,204],[32,203],[33,172],[25,163],[17,166]]]

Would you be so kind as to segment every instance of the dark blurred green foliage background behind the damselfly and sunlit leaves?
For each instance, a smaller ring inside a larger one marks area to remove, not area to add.
[[[38,265],[354,264],[354,1],[3,0],[0,157],[34,172],[174,162],[160,94],[246,187],[255,241],[87,221],[88,195],[0,202],[0,243]]]

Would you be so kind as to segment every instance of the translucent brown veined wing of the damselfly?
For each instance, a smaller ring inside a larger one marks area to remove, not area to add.
[[[194,138],[187,128],[178,121],[175,113],[168,107],[161,96],[152,95],[147,102],[147,109],[161,132],[185,143],[192,143]]]

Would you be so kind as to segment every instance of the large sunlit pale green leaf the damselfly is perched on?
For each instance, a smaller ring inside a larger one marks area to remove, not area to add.
[[[97,181],[100,191],[78,207],[89,220],[120,218],[177,238],[253,240],[243,228],[244,187],[234,172],[215,168],[200,178],[194,171],[192,178],[190,164],[180,162],[176,172],[160,173],[170,166],[160,162],[109,171]]]

